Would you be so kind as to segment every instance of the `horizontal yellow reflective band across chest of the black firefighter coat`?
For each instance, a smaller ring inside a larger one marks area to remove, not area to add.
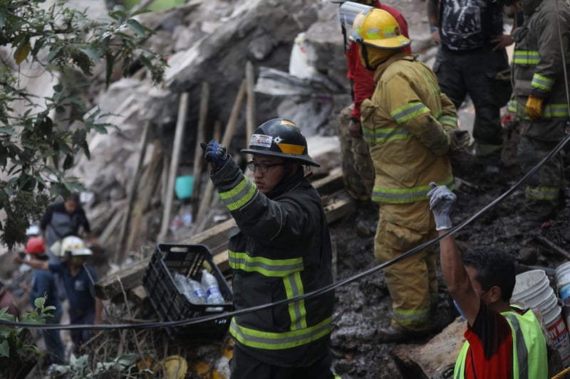
[[[265,257],[251,257],[247,252],[228,250],[229,267],[245,272],[257,272],[265,277],[286,277],[304,269],[303,258],[271,260]]]

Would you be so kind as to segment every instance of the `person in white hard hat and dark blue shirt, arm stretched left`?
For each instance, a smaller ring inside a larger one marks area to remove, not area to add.
[[[61,275],[69,301],[70,324],[97,325],[101,323],[103,304],[95,295],[98,276],[93,267],[86,263],[90,255],[93,255],[93,252],[86,247],[83,240],[71,235],[63,238],[61,242],[61,262],[25,261],[17,256],[14,257],[14,262],[24,263],[36,269],[49,269]],[[77,352],[92,336],[93,333],[88,329],[72,330],[73,351]]]

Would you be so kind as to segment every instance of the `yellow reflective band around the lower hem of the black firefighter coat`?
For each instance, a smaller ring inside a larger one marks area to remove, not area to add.
[[[274,333],[269,331],[257,331],[244,326],[239,326],[232,319],[229,325],[229,333],[245,346],[252,348],[263,348],[266,350],[281,350],[284,348],[295,348],[318,340],[328,333],[331,333],[331,317],[324,319],[315,326],[297,330]]]

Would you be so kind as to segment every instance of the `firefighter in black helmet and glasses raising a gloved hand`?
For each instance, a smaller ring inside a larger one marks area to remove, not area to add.
[[[321,196],[304,166],[301,129],[288,119],[261,124],[243,153],[255,183],[225,146],[210,141],[210,178],[237,223],[228,243],[236,310],[292,299],[332,283],[331,238]],[[331,373],[333,292],[234,317],[232,379],[334,378]]]

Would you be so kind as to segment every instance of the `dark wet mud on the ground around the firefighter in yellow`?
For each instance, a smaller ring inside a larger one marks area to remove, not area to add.
[[[477,215],[455,237],[464,247],[493,245],[507,250],[517,261],[517,271],[530,266],[555,269],[568,259],[554,247],[546,247],[537,237],[548,240],[566,250],[570,242],[570,209],[559,210],[556,218],[532,230],[521,226],[524,220],[524,185],[489,210],[481,212],[495,199],[514,188],[522,178],[516,162],[516,129],[504,134],[504,166],[500,174],[487,174],[468,152],[452,157],[456,177],[457,203],[452,214],[454,225]],[[566,168],[569,166],[566,165]],[[566,169],[566,176],[570,174]],[[568,196],[568,191],[566,191]],[[354,224],[359,215],[353,213],[331,225],[331,235],[338,251],[338,280],[353,277],[375,267],[373,237],[363,239],[356,235]],[[370,217],[368,215],[368,217]],[[440,301],[434,323],[445,326],[455,319],[450,308],[445,282],[441,277]],[[552,279],[552,278],[551,278]],[[378,328],[388,326],[391,300],[383,272],[358,279],[336,290],[336,311],[333,318],[334,368],[343,379],[405,378],[394,358],[394,343],[379,343]],[[425,343],[413,341],[415,344]]]

